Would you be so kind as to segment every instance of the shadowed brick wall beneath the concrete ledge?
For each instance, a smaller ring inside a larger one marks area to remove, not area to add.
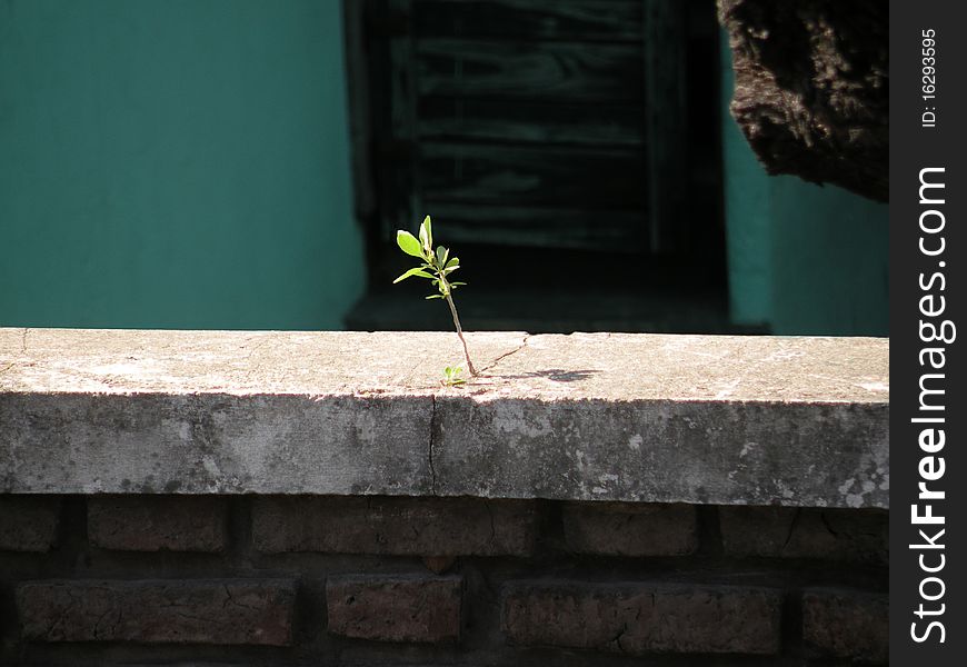
[[[0,496],[0,664],[886,663],[887,514]]]

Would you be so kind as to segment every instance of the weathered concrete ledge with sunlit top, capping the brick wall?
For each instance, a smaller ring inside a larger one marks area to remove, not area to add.
[[[0,491],[888,507],[864,338],[0,329]]]

